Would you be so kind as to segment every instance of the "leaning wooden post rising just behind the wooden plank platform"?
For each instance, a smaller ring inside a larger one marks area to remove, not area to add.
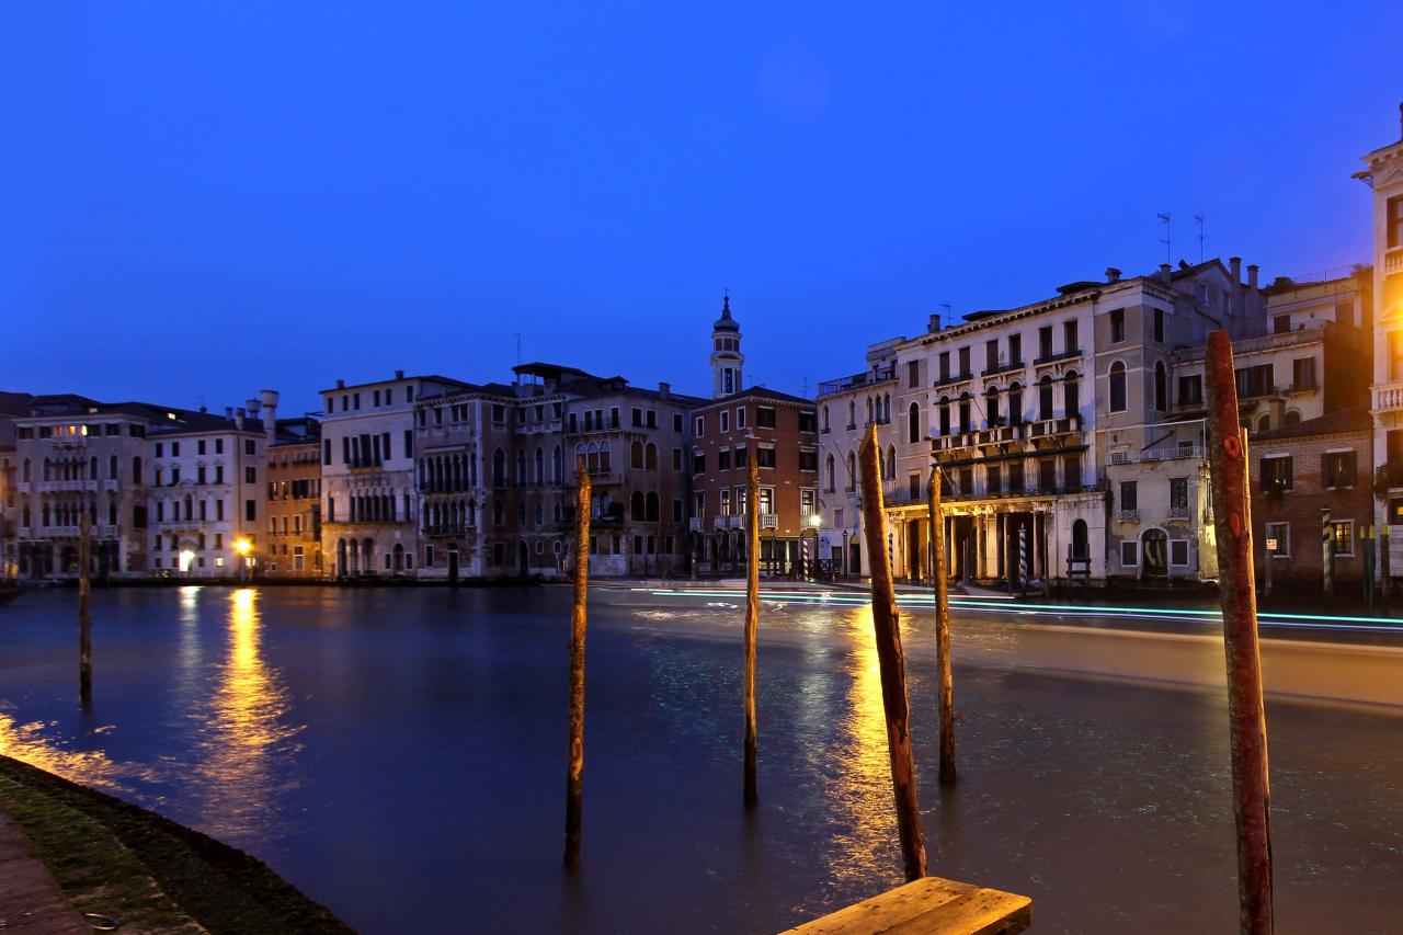
[[[882,539],[887,538],[887,511],[881,498],[875,424],[867,427],[859,460],[863,476],[863,531],[873,562],[873,629],[881,668],[882,712],[887,715],[887,751],[891,755],[897,830],[901,834],[901,859],[906,868],[906,879],[916,880],[926,875],[926,844],[920,827],[920,802],[916,795],[916,761],[911,751],[908,723],[911,703],[906,698],[906,660],[901,650],[897,588],[891,580],[891,556],[882,550]]]

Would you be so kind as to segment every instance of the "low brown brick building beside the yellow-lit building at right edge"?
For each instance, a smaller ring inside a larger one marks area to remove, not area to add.
[[[1364,406],[1251,437],[1251,526],[1258,580],[1267,542],[1277,543],[1273,588],[1320,592],[1324,531],[1334,550],[1336,587],[1364,574],[1360,538],[1374,514],[1374,423]]]

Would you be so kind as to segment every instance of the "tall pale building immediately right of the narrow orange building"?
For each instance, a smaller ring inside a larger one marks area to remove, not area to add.
[[[405,376],[321,390],[321,552],[337,578],[414,577],[414,404],[466,383]]]

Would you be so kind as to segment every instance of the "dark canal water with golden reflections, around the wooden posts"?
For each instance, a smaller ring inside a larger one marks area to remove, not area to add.
[[[262,858],[368,932],[773,932],[897,886],[871,618],[767,602],[760,806],[741,807],[739,601],[591,595],[585,827],[560,862],[565,588],[109,590],[77,706],[73,594],[0,606],[0,752]],[[1229,932],[1218,692],[1019,664],[962,615],[960,785],[936,782],[933,629],[906,612],[930,869],[1040,932]],[[1284,932],[1397,931],[1403,720],[1268,706]]]

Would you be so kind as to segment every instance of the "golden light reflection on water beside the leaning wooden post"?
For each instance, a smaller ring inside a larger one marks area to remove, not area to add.
[[[854,606],[836,622],[839,633],[850,640],[847,665],[853,682],[839,723],[846,740],[829,793],[843,828],[836,835],[829,872],[835,883],[870,883],[890,872],[897,854],[881,671],[871,608]]]

